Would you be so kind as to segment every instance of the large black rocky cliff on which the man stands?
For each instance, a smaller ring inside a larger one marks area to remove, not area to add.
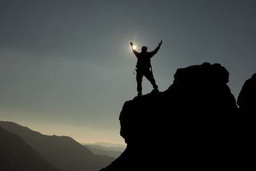
[[[178,69],[164,92],[126,101],[119,120],[127,148],[101,170],[249,167],[253,129],[228,82],[225,67],[203,63]]]

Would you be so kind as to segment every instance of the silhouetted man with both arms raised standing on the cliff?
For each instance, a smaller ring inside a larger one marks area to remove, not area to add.
[[[156,85],[156,81],[153,76],[153,72],[151,70],[151,68],[152,68],[151,67],[151,58],[157,53],[157,51],[159,51],[160,46],[162,44],[162,40],[159,43],[159,46],[157,46],[157,48],[152,52],[148,52],[147,51],[148,48],[145,46],[141,47],[141,52],[137,52],[135,50],[135,48],[133,48],[134,42],[130,41],[129,43],[132,47],[133,53],[135,54],[135,56],[138,59],[137,65],[136,65],[136,71],[137,71],[136,80],[137,80],[138,96],[142,95],[142,78],[143,78],[143,76],[145,76],[145,78],[147,78],[149,80],[149,82],[151,82],[155,91],[159,92],[159,90],[157,89],[158,86]]]

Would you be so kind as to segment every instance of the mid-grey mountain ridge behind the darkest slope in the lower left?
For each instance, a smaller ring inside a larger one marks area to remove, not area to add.
[[[24,140],[23,144],[31,146],[31,150],[34,149],[59,170],[99,170],[115,160],[112,157],[95,155],[71,137],[46,136],[27,127],[5,121],[0,121],[0,126],[21,137]],[[24,149],[23,152],[26,153],[26,150]]]

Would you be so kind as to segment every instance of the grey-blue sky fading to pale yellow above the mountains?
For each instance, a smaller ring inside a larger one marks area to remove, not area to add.
[[[163,41],[152,58],[160,91],[177,68],[220,63],[237,99],[256,72],[255,9],[250,0],[1,0],[0,120],[124,144],[119,114],[137,95],[129,40],[149,51]],[[151,90],[144,78],[143,93]]]

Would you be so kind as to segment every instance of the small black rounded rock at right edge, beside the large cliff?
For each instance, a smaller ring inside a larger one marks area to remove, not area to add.
[[[241,112],[255,113],[256,108],[256,73],[246,80],[242,90],[239,93],[237,104]]]

